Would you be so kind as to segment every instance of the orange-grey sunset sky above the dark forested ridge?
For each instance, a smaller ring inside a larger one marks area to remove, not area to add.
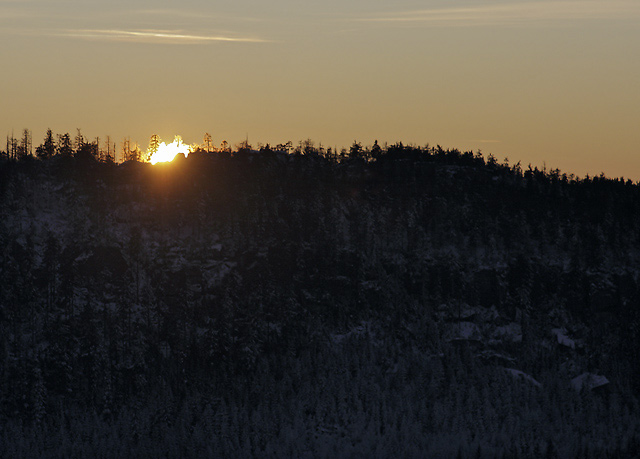
[[[0,134],[34,145],[401,141],[640,180],[640,0],[0,0],[0,43]]]

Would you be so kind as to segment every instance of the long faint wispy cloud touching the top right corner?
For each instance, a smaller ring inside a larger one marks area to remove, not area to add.
[[[638,0],[518,1],[457,8],[422,9],[359,18],[362,22],[430,26],[514,26],[557,21],[639,19]]]

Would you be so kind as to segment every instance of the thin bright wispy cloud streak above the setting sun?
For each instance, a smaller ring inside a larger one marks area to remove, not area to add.
[[[227,35],[197,35],[168,30],[81,29],[55,33],[58,36],[85,40],[122,41],[150,44],[203,44],[214,42],[267,43],[269,40]]]

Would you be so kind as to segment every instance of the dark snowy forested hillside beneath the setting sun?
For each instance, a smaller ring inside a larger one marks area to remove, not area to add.
[[[640,184],[27,133],[0,154],[0,457],[640,451]]]

